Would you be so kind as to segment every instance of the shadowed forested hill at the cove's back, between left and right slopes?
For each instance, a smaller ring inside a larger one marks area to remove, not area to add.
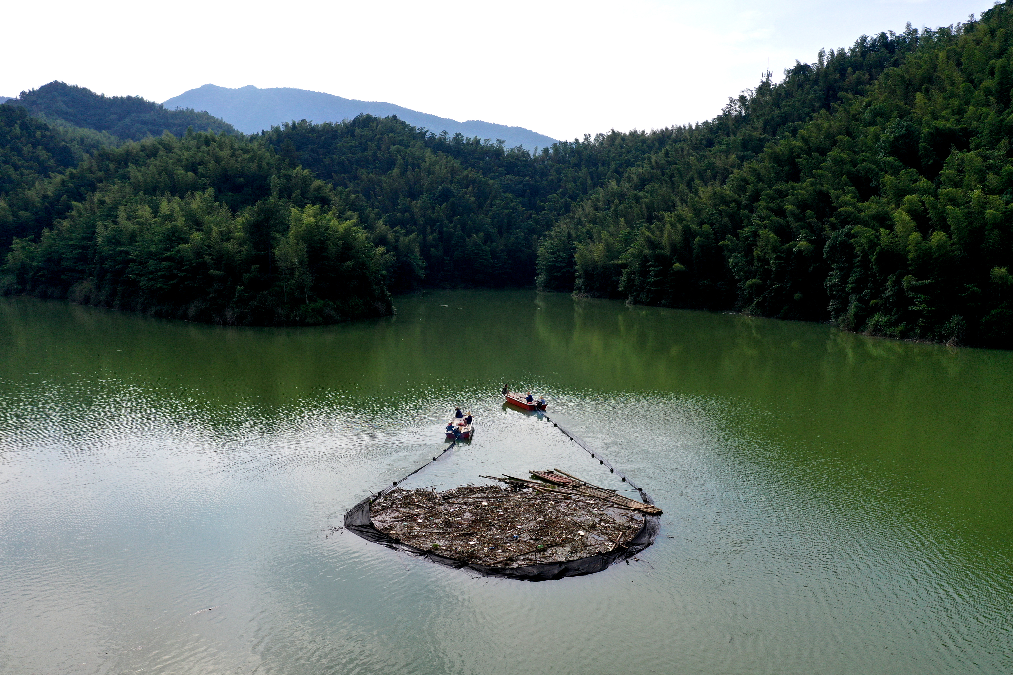
[[[611,134],[527,151],[437,136],[393,117],[305,121],[263,135],[292,166],[398,252],[395,289],[422,282],[530,285],[537,242],[576,201],[659,150],[666,134]],[[423,276],[424,274],[424,276]]]

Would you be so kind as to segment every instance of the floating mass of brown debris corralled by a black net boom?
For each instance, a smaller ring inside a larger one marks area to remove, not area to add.
[[[555,472],[441,493],[394,488],[349,511],[345,523],[360,536],[444,565],[532,581],[599,572],[653,540],[660,509]],[[423,517],[425,527],[413,526]]]

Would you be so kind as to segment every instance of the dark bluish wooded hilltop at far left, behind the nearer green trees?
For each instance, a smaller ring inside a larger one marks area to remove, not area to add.
[[[105,132],[123,140],[140,141],[168,132],[182,136],[190,126],[198,132],[234,134],[232,124],[192,109],[169,110],[140,96],[106,96],[63,82],[50,82],[38,89],[22,91],[7,101],[35,115],[54,117],[75,126]]]

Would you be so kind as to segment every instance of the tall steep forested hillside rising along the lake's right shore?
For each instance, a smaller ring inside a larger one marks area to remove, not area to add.
[[[543,287],[1013,346],[1010,5],[730,100],[560,219]]]

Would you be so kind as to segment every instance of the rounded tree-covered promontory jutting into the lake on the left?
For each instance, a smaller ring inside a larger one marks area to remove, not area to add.
[[[166,134],[102,149],[41,191],[68,181],[91,189],[53,227],[13,239],[3,290],[221,323],[392,311],[390,254],[330,187],[262,145]]]

